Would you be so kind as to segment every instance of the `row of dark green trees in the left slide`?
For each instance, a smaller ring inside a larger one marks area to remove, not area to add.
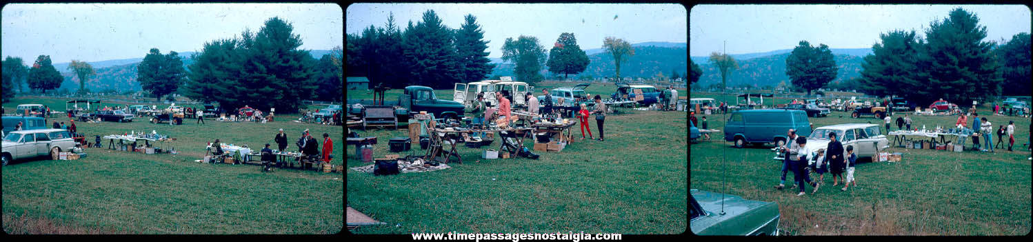
[[[335,48],[316,60],[309,51],[299,49],[301,36],[292,31],[290,23],[269,19],[258,32],[245,30],[240,37],[206,42],[186,68],[178,53],[151,49],[136,66],[136,81],[159,100],[179,93],[218,102],[224,109],[250,105],[293,113],[304,107],[302,100],[342,100],[343,50]],[[12,87],[21,87],[17,82],[24,80],[29,88],[45,93],[63,81],[46,55],[40,55],[32,67],[22,65],[20,58],[7,57],[3,68],[4,101],[13,93]],[[68,68],[80,80],[80,92],[88,91],[84,84],[95,75],[93,67],[72,60]]]

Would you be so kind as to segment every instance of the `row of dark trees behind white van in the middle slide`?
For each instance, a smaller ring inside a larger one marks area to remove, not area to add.
[[[361,34],[348,34],[347,74],[367,77],[372,86],[392,88],[422,85],[448,89],[455,83],[482,81],[495,64],[488,58],[490,41],[483,39],[476,20],[467,14],[459,29],[450,29],[434,10],[427,10],[418,23],[410,21],[402,30],[389,14],[383,28],[371,25]],[[615,57],[620,77],[620,64],[634,55],[634,49],[616,37],[606,37],[603,47]],[[585,71],[591,62],[573,33],[561,33],[547,52],[537,37],[527,35],[506,38],[501,51],[502,60],[515,65],[515,80],[532,84],[544,79],[541,72],[545,67],[566,79]]]

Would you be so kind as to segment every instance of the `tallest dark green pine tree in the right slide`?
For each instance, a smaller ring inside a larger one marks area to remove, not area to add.
[[[970,103],[1001,93],[1003,79],[998,72],[991,48],[982,41],[987,27],[979,18],[954,8],[947,18],[930,24],[926,31],[926,55],[920,55],[917,80],[928,80],[932,98]]]

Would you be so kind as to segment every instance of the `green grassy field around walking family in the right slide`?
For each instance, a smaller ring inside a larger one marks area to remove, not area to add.
[[[911,117],[912,126],[918,127],[951,125],[957,119]],[[826,175],[816,194],[808,187],[804,196],[772,187],[779,182],[782,164],[771,158],[772,146],[735,149],[723,142],[722,133],[715,133],[713,141],[690,146],[690,188],[776,202],[782,215],[779,226],[789,235],[1026,235],[1030,232],[1031,168],[1030,152],[1022,144],[1029,139],[1030,120],[988,119],[995,126],[1015,122],[1014,151],[954,153],[895,147],[887,152],[904,153],[901,162],[865,160],[857,164],[857,187],[841,191],[842,184],[833,187]],[[842,112],[810,120],[815,127],[880,123],[874,118],[851,119]],[[723,129],[720,115],[708,121],[710,128]],[[994,140],[996,144],[996,135]],[[787,180],[791,182],[791,173]]]

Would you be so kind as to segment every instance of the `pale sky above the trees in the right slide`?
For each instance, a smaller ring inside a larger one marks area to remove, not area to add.
[[[792,49],[800,40],[833,49],[872,48],[879,34],[914,30],[925,37],[933,21],[962,7],[979,18],[988,40],[1030,32],[1025,5],[696,5],[689,13],[689,55]]]

